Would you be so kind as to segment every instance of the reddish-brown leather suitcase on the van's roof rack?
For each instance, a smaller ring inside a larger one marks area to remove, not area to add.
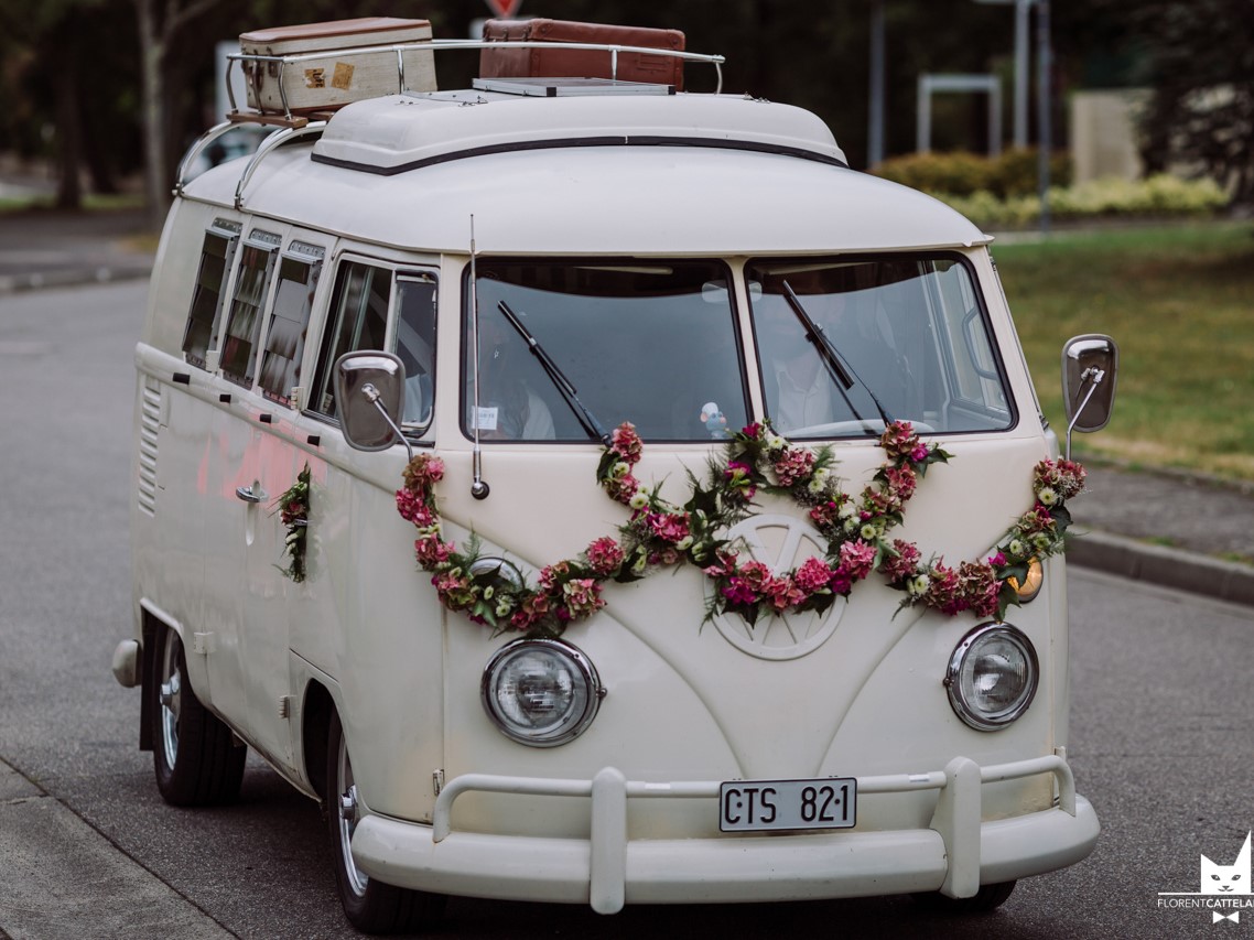
[[[683,51],[683,33],[677,29],[608,26],[569,20],[488,20],[488,41],[601,43]],[[618,73],[612,74],[612,56],[599,49],[483,49],[480,78],[618,78],[621,81],[651,81],[683,90],[683,60],[671,55],[618,53]]]

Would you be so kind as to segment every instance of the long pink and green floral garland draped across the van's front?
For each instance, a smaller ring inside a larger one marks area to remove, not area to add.
[[[561,635],[569,623],[606,605],[601,597],[606,582],[633,582],[653,569],[685,563],[714,580],[706,619],[730,612],[754,624],[764,614],[821,613],[873,570],[905,593],[902,608],[924,604],[949,615],[972,610],[1001,619],[1007,605],[1018,603],[1012,579],[1022,582],[1033,558],[1062,550],[1071,523],[1063,504],[1083,489],[1083,467],[1066,460],[1037,464],[1033,508],[991,558],[954,569],[943,559],[923,561],[912,543],[888,539],[902,523],[918,479],[952,455],[922,442],[905,421],[888,425],[879,446],[888,460],[854,499],[839,489],[830,447],[796,447],[769,424],[752,424],[731,435],[722,461],[710,461],[705,483],[688,474],[692,495],[677,506],[658,495],[660,486],[648,489],[632,475],[643,445],[624,422],[602,454],[597,480],[607,495],[632,510],[631,518],[617,538],[596,539],[577,558],[543,568],[534,588],[517,569],[517,580],[502,578],[497,568],[474,570],[479,558],[474,536],[464,553],[443,540],[434,509],[434,486],[444,476],[439,457],[414,457],[405,470],[405,486],[396,493],[396,508],[418,528],[415,555],[431,573],[441,603],[498,633]],[[751,514],[759,490],[790,496],[809,509],[810,521],[828,540],[821,558],[809,558],[786,573],[740,560],[725,533]]]

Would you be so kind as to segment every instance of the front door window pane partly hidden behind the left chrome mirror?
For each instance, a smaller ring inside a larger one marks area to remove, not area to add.
[[[346,261],[340,264],[319,351],[310,410],[335,417],[335,362],[345,352],[382,350],[387,340],[389,268]]]

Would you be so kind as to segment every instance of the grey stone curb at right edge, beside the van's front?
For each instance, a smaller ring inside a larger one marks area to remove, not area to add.
[[[1131,580],[1254,607],[1254,568],[1235,561],[1092,530],[1068,541],[1067,560]]]

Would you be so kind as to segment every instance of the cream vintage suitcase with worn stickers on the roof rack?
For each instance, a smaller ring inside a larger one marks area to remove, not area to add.
[[[401,20],[391,16],[366,16],[356,20],[308,23],[245,33],[240,51],[245,55],[305,55],[325,51],[319,59],[298,63],[242,61],[248,107],[265,114],[283,114],[283,97],[293,114],[342,108],[351,102],[396,94],[400,75],[396,54],[342,55],[346,49],[390,46],[400,43],[430,41],[429,20]],[[435,90],[435,63],[431,50],[403,53],[405,89]],[[282,91],[280,91],[280,83]]]

